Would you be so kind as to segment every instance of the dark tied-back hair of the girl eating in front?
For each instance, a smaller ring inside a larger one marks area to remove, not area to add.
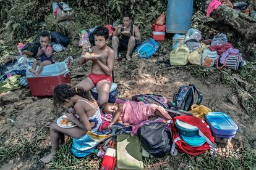
[[[93,102],[93,97],[88,92],[84,91],[82,87],[70,86],[70,84],[59,84],[53,90],[53,104],[55,106],[64,103],[65,99],[69,99],[74,95],[79,95],[90,102]]]

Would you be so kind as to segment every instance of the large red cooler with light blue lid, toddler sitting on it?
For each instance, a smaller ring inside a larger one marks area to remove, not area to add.
[[[26,77],[33,96],[51,96],[54,87],[62,83],[70,83],[69,69],[64,62],[46,65],[39,76],[33,75],[27,69]]]

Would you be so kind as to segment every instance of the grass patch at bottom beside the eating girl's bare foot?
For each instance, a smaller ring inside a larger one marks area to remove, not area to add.
[[[66,144],[62,145],[56,157],[47,164],[50,169],[100,169],[101,158],[95,154],[91,154],[85,158],[75,158],[70,152],[72,140],[69,140]]]

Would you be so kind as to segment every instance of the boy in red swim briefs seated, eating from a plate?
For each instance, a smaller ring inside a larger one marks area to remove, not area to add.
[[[85,91],[90,91],[96,86],[98,91],[98,105],[101,107],[108,103],[109,90],[112,83],[111,73],[114,68],[114,51],[106,44],[108,43],[108,29],[104,26],[98,26],[93,31],[95,46],[92,51],[95,54],[101,54],[98,58],[82,57],[88,51],[87,46],[83,46],[83,51],[79,59],[80,65],[92,60],[91,73],[87,78],[77,84],[78,87],[83,87]]]

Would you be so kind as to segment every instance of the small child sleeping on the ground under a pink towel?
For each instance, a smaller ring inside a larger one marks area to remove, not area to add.
[[[126,100],[124,103],[106,103],[103,108],[105,113],[113,114],[109,127],[116,121],[122,121],[123,124],[136,125],[146,120],[155,118],[171,119],[168,112],[163,107],[153,103],[145,104],[143,102],[134,102]]]

